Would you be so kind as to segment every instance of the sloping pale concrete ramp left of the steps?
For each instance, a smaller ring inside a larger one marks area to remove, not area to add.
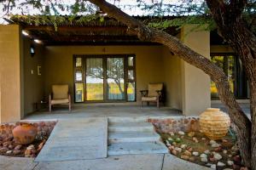
[[[60,120],[35,161],[104,158],[107,148],[107,118]]]

